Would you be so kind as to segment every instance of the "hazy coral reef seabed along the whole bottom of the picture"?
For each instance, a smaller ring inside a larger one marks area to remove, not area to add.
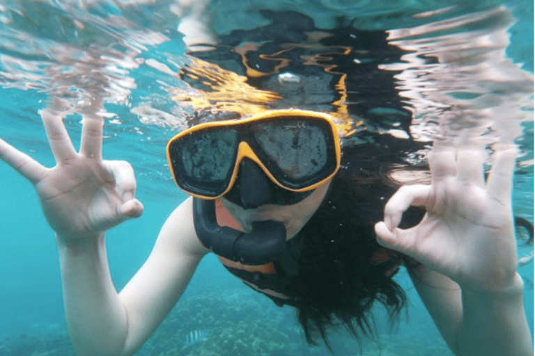
[[[206,337],[187,342],[202,330]],[[346,332],[329,338],[335,356],[453,356],[439,334],[417,325],[400,334],[380,334],[359,344]],[[0,341],[0,356],[75,355],[66,332],[20,334]],[[279,308],[247,288],[196,291],[184,296],[137,356],[331,356],[325,346],[309,346],[293,309]]]

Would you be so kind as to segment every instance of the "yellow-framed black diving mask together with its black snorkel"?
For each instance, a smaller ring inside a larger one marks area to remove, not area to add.
[[[283,250],[284,223],[259,221],[249,233],[221,227],[215,200],[245,209],[300,202],[336,174],[341,148],[329,115],[292,109],[199,124],[169,141],[167,159],[178,187],[195,198],[201,242],[219,256],[258,265]]]

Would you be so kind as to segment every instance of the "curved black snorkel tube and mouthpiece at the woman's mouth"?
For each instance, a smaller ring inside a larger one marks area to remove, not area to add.
[[[257,221],[251,232],[240,232],[217,224],[215,202],[194,198],[195,232],[201,243],[215,254],[240,261],[242,264],[261,265],[276,260],[286,244],[286,227],[279,221]]]

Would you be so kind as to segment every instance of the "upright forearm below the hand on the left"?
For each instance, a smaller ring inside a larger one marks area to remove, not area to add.
[[[79,355],[120,355],[127,314],[111,281],[104,234],[58,245],[72,345]]]

